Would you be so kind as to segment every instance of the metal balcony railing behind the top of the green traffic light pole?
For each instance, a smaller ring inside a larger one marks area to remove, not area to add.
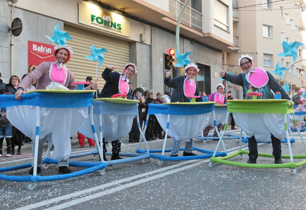
[[[169,16],[177,20],[183,5],[184,3],[178,0],[169,0]],[[186,6],[182,14],[181,23],[202,31],[202,14],[190,6]]]

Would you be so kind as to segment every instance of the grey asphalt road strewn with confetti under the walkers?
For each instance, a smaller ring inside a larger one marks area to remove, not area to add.
[[[233,131],[238,135],[238,131]],[[304,133],[303,133],[304,135]],[[305,148],[294,134],[293,154],[305,154]],[[148,142],[150,149],[162,148],[162,140]],[[214,150],[218,141],[203,143],[194,140],[194,146]],[[228,154],[239,147],[237,139],[225,140]],[[166,148],[170,148],[168,140]],[[92,150],[72,144],[73,154]],[[124,139],[121,152],[134,153],[137,143]],[[184,146],[182,143],[181,146]],[[247,145],[243,143],[244,149]],[[107,146],[111,151],[111,147]],[[142,144],[144,148],[144,144]],[[259,144],[259,152],[271,153],[271,144]],[[283,154],[289,154],[282,144]],[[200,154],[199,152],[195,152]],[[169,155],[169,154],[167,154]],[[182,152],[179,154],[182,156]],[[110,156],[108,156],[110,158]],[[246,162],[247,156],[231,160]],[[78,160],[98,161],[93,156]],[[289,159],[283,159],[289,162]],[[22,155],[1,158],[0,167],[15,166],[32,161],[30,145],[24,145]],[[297,159],[296,162],[301,160]],[[0,180],[2,209],[306,209],[306,167],[298,167],[297,174],[285,169],[252,169],[214,164],[209,159],[191,161],[164,161],[146,163],[135,161],[107,167],[105,175],[93,172],[60,181],[39,182],[28,190],[28,182]],[[257,163],[274,163],[274,159],[259,157]],[[81,168],[71,167],[72,171]],[[2,174],[26,176],[29,169]],[[50,165],[39,175],[58,174],[58,167]]]

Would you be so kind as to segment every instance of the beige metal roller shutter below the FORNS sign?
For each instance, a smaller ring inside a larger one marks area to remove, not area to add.
[[[129,42],[119,39],[114,39],[101,34],[88,32],[79,28],[74,28],[64,25],[64,31],[68,32],[73,40],[66,40],[69,47],[72,47],[73,55],[71,60],[66,64],[67,68],[73,73],[76,81],[85,81],[86,77],[91,76],[96,78],[96,62],[85,58],[86,55],[91,55],[90,46],[104,47],[108,50],[103,53],[104,62],[102,66],[98,63],[98,78],[100,90],[104,87],[105,80],[101,74],[103,70],[109,66],[117,66],[117,72],[122,73],[125,64],[130,60]]]

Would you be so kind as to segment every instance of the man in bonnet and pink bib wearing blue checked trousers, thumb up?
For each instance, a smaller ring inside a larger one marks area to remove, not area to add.
[[[196,82],[193,80],[196,74],[199,72],[198,66],[190,63],[185,67],[186,74],[184,76],[178,76],[171,79],[172,69],[166,73],[164,78],[164,84],[170,88],[173,88],[171,103],[172,102],[189,102],[187,96],[199,96],[199,89]],[[196,102],[202,102],[202,98],[196,98]],[[184,129],[184,128],[182,128]],[[172,150],[170,157],[177,157],[180,149],[181,141],[173,139]],[[193,139],[189,142],[186,141],[185,150],[183,156],[195,156],[192,151]]]

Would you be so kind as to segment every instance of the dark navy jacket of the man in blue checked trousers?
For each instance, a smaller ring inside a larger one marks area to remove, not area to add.
[[[184,80],[186,76],[178,76],[173,79],[164,78],[164,83],[169,88],[174,88],[171,95],[171,102],[189,102],[189,99],[184,94]],[[199,96],[198,85],[196,84],[195,96]],[[202,98],[196,98],[196,102],[202,102]]]

